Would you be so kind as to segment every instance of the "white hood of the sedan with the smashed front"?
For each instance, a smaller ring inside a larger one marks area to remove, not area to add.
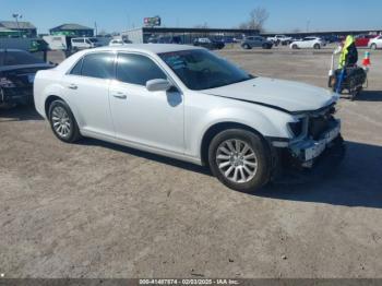
[[[260,104],[287,112],[318,110],[338,99],[336,94],[321,87],[267,78],[255,78],[204,90],[202,93]]]

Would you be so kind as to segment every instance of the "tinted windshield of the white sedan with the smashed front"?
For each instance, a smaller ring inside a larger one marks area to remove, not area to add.
[[[228,61],[203,50],[181,50],[159,53],[159,57],[193,91],[208,90],[248,81],[252,75]]]

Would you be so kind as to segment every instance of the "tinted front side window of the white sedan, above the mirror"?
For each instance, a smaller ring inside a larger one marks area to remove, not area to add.
[[[119,53],[117,61],[117,80],[146,85],[147,81],[156,79],[167,79],[162,69],[151,59],[142,55]]]

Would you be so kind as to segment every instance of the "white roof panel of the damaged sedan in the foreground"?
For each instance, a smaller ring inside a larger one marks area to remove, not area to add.
[[[191,50],[191,49],[202,49],[194,46],[188,45],[176,45],[176,44],[127,44],[119,47],[100,47],[92,49],[92,51],[144,51],[150,53],[163,53],[170,51],[180,51],[180,50]]]

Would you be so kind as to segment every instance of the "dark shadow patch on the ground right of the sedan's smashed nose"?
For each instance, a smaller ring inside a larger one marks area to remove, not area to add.
[[[382,208],[382,146],[346,142],[344,160],[324,162],[301,179],[272,183],[256,195],[299,202]]]

